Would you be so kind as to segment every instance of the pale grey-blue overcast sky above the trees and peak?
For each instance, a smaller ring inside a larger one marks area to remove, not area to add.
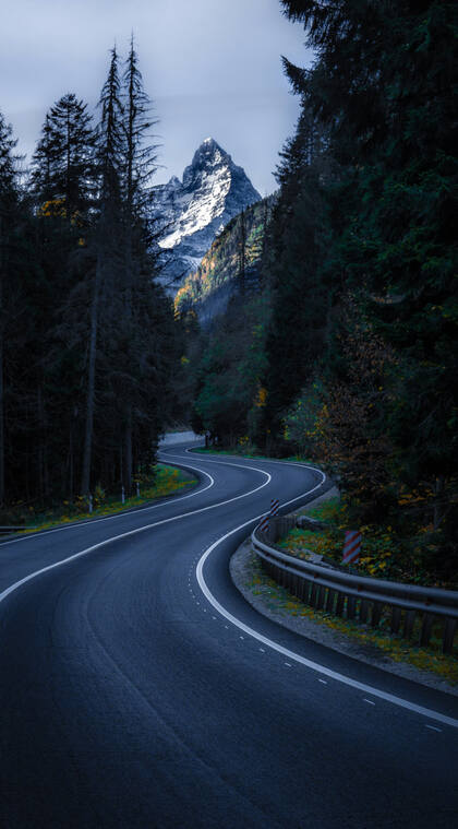
[[[181,178],[213,137],[264,196],[299,102],[280,56],[310,64],[300,25],[279,0],[1,0],[0,109],[33,152],[46,110],[67,92],[97,102],[113,42],[133,29],[155,102],[164,169]]]

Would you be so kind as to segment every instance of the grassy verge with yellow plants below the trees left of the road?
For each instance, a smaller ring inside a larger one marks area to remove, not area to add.
[[[155,466],[154,477],[140,485],[140,496],[125,498],[124,504],[117,496],[110,497],[99,493],[99,497],[97,497],[96,490],[92,513],[88,511],[86,500],[79,497],[73,502],[63,501],[46,511],[33,512],[28,510],[26,513],[23,512],[19,516],[17,523],[25,525],[24,532],[34,532],[47,530],[58,524],[87,521],[88,519],[111,516],[122,510],[141,507],[164,496],[176,495],[196,483],[197,479],[190,473],[158,463]]]

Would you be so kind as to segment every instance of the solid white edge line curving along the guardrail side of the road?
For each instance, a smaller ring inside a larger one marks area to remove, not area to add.
[[[326,475],[324,475],[324,473],[321,470],[316,470],[314,466],[305,466],[304,464],[299,464],[299,463],[294,465],[304,466],[304,469],[313,469],[314,471],[320,472],[323,476],[323,481],[317,486],[298,496],[298,498],[292,498],[290,501],[286,501],[285,504],[281,505],[281,507],[287,507],[290,504],[293,504],[294,501],[300,500],[305,495],[311,495],[316,489],[318,489],[318,487],[322,486],[323,482],[326,479]],[[378,699],[385,700],[385,702],[391,702],[393,704],[398,706],[399,708],[405,708],[417,714],[421,714],[422,717],[427,717],[430,720],[435,720],[436,722],[442,722],[445,725],[451,725],[451,727],[458,729],[458,720],[455,720],[451,717],[446,717],[445,714],[441,714],[438,711],[433,711],[430,708],[418,706],[415,702],[410,702],[409,700],[402,699],[401,697],[396,697],[394,694],[387,694],[386,691],[383,691],[379,688],[376,688],[375,686],[365,685],[365,683],[359,683],[357,679],[351,679],[349,676],[345,676],[345,674],[340,674],[337,671],[332,671],[325,665],[321,665],[318,662],[313,662],[312,660],[309,660],[305,656],[301,656],[299,653],[296,653],[294,651],[289,650],[289,648],[284,648],[284,646],[278,644],[278,642],[274,642],[272,639],[268,639],[266,636],[263,636],[263,633],[258,633],[257,630],[254,630],[253,628],[249,627],[243,621],[241,621],[236,616],[233,616],[231,613],[229,613],[229,611],[222,607],[222,605],[218,602],[218,600],[213,595],[212,591],[209,590],[205,581],[204,572],[203,572],[205,561],[212,555],[212,553],[220,544],[222,544],[224,541],[226,541],[226,538],[229,538],[231,535],[239,532],[240,530],[243,530],[245,526],[253,524],[254,521],[258,521],[261,518],[262,518],[262,514],[256,516],[255,518],[252,518],[250,521],[245,521],[243,524],[239,524],[239,526],[236,526],[233,530],[230,530],[230,532],[226,533],[220,538],[218,538],[218,541],[214,542],[214,544],[207,547],[203,556],[200,558],[197,566],[195,568],[197,583],[205,599],[213,605],[213,607],[221,616],[224,616],[225,619],[230,621],[240,630],[243,630],[249,636],[253,637],[253,639],[256,639],[258,642],[266,644],[268,648],[272,648],[278,653],[281,653],[284,656],[288,656],[289,659],[292,659],[296,662],[299,662],[301,665],[304,665],[305,667],[309,667],[312,671],[316,671],[316,673],[322,674],[323,676],[327,676],[329,679],[335,679],[336,682],[341,683],[342,685],[348,685],[349,687],[355,688],[360,691],[363,691],[364,694],[371,694],[373,697],[377,697]]]

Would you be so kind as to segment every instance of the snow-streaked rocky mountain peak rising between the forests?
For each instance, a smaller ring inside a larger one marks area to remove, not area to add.
[[[260,201],[242,167],[212,138],[205,139],[183,173],[155,188],[155,216],[162,232],[164,282],[172,293],[196,270],[215,237],[249,204]]]

